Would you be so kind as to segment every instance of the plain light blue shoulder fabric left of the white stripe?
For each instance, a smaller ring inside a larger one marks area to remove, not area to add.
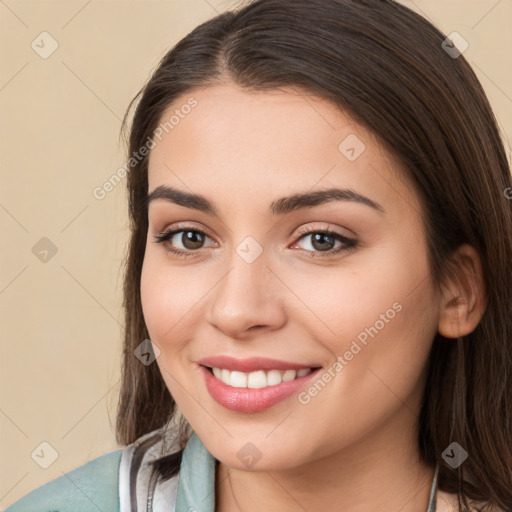
[[[119,510],[118,475],[122,450],[97,457],[38,487],[4,512],[89,512]]]

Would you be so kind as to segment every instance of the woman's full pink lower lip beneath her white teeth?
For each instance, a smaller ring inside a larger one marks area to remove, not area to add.
[[[259,389],[234,388],[217,379],[204,366],[201,366],[201,371],[206,388],[220,405],[232,411],[260,412],[293,395],[307,380],[316,375],[319,369],[304,375],[304,377]]]

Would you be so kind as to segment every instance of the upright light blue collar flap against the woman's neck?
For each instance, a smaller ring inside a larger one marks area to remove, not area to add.
[[[195,432],[181,459],[176,512],[215,512],[215,458]]]

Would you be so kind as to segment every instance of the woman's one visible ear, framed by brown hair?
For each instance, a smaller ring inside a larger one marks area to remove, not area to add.
[[[453,255],[454,272],[444,287],[439,303],[438,332],[458,338],[473,332],[487,306],[487,293],[478,252],[468,244]]]

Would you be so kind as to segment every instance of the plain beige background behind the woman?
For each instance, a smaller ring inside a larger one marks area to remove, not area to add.
[[[117,448],[125,183],[93,190],[124,162],[120,120],[160,57],[238,3],[0,2],[0,508]],[[403,3],[468,41],[510,155],[512,2]]]

